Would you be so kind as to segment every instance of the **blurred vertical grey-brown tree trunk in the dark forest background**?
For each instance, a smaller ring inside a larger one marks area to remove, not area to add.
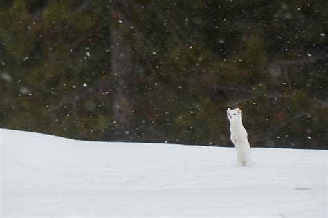
[[[113,8],[116,9],[115,7]],[[114,21],[115,22],[115,21]],[[132,93],[131,46],[123,37],[122,26],[111,28],[111,75],[113,128],[111,139],[115,141],[133,141],[134,99]]]

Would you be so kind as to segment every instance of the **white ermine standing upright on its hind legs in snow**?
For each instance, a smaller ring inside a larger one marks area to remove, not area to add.
[[[242,110],[228,108],[227,116],[230,121],[230,139],[237,150],[238,166],[251,166],[252,153],[247,139],[247,132],[242,123]]]

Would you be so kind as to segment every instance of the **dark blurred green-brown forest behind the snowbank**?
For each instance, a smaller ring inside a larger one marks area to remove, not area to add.
[[[328,1],[1,0],[0,128],[327,149]]]

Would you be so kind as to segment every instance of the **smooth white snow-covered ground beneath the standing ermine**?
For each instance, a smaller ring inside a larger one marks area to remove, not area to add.
[[[327,217],[327,151],[75,141],[0,130],[1,217]]]

